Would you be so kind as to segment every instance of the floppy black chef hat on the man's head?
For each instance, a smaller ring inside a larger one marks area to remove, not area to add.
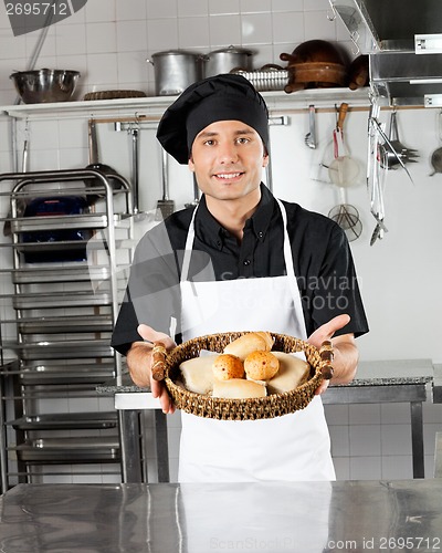
[[[269,112],[264,98],[242,75],[221,74],[191,84],[170,105],[157,138],[180,164],[189,161],[194,137],[215,121],[241,121],[254,128],[269,152]]]

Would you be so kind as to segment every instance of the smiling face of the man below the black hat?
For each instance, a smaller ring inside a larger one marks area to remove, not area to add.
[[[261,136],[240,121],[218,121],[203,128],[193,140],[189,159],[208,201],[259,195],[262,169],[267,164]]]

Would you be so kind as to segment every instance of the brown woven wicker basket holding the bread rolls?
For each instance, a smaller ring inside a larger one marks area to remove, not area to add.
[[[305,353],[306,359],[312,366],[311,377],[305,384],[283,394],[271,394],[266,397],[251,399],[213,398],[189,392],[182,385],[177,384],[180,376],[179,365],[182,362],[198,357],[201,349],[221,353],[230,342],[243,334],[248,333],[233,332],[201,336],[177,346],[165,355],[164,361],[160,359],[159,363],[157,357],[157,369],[159,369],[159,374],[162,371],[166,386],[178,409],[198,417],[219,420],[255,420],[281,417],[304,409],[313,399],[315,390],[322,380],[330,378],[333,352],[329,342],[327,345],[324,343],[324,351],[322,348],[319,352],[316,347],[302,340],[285,334],[271,333],[275,340],[273,351]],[[161,366],[162,363],[164,366]]]

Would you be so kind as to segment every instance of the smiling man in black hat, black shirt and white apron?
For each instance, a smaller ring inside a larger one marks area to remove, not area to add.
[[[368,332],[350,249],[334,221],[276,199],[262,182],[270,150],[263,97],[240,75],[206,79],[165,112],[157,138],[188,165],[202,195],[137,247],[112,341],[135,384],[151,386],[173,413],[150,376],[152,342],[172,348],[234,331],[285,333],[316,347],[332,340],[332,384],[350,382],[355,338]],[[181,413],[179,481],[334,480],[320,399],[327,386],[305,409],[273,419]]]

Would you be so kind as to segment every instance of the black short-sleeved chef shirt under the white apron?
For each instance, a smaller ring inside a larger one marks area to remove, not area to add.
[[[204,196],[194,218],[194,242],[188,280],[230,280],[286,274],[281,210],[270,190],[246,220],[241,243],[209,212]],[[351,251],[344,231],[329,218],[283,201],[293,263],[302,298],[307,335],[336,315],[351,320],[336,335],[368,332]],[[170,316],[178,322],[179,279],[193,208],[175,212],[141,238],[129,283],[113,333],[112,345],[125,354],[139,341],[137,325],[169,334]],[[256,310],[260,299],[256,298]]]

